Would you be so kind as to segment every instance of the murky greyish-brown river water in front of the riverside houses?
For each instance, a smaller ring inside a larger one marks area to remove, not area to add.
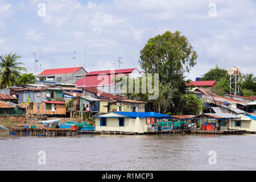
[[[256,135],[0,133],[0,147],[0,170],[256,170]]]

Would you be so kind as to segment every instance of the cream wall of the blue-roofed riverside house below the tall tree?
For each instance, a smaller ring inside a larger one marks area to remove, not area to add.
[[[96,131],[147,132],[146,118],[125,118],[125,126],[119,126],[118,118],[106,118],[106,126],[100,126],[101,118],[96,118]]]

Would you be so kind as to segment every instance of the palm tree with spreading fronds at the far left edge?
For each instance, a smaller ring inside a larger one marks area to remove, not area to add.
[[[26,68],[20,67],[24,63],[18,62],[21,56],[16,53],[5,54],[0,56],[0,68],[1,68],[1,88],[7,88],[13,86],[18,77],[22,75],[21,71],[27,71]]]

